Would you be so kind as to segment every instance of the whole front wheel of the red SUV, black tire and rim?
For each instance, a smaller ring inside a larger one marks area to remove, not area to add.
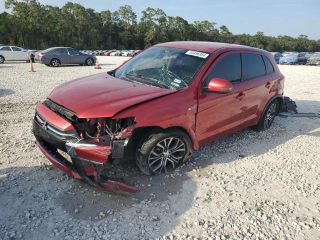
[[[155,175],[172,171],[192,153],[191,140],[184,131],[156,128],[138,143],[136,164],[145,175]]]

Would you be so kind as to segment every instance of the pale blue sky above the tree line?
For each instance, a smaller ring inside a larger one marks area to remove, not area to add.
[[[189,23],[208,20],[226,25],[233,34],[257,31],[265,35],[307,35],[320,39],[320,0],[69,0],[96,11],[115,11],[128,4],[137,14],[147,7],[161,8],[169,16],[181,16]],[[39,0],[41,4],[63,6],[67,0]],[[0,12],[4,11],[0,0]],[[7,10],[10,12],[10,10]]]

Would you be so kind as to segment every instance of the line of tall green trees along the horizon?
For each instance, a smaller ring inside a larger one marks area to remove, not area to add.
[[[160,8],[148,7],[137,19],[132,7],[96,12],[78,3],[61,8],[37,0],[5,0],[11,13],[0,13],[0,43],[44,49],[71,46],[77,49],[143,49],[166,41],[235,42],[268,51],[320,51],[320,39],[306,35],[266,36],[263,32],[232,34],[225,25],[207,20],[188,23],[180,16],[168,16]]]

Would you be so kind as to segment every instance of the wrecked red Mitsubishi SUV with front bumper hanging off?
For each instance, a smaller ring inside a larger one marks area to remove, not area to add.
[[[71,177],[135,192],[87,163],[129,158],[147,175],[170,171],[199,145],[248,126],[269,128],[283,82],[273,56],[261,49],[161,43],[112,71],[57,86],[36,106],[33,132],[46,157]]]

